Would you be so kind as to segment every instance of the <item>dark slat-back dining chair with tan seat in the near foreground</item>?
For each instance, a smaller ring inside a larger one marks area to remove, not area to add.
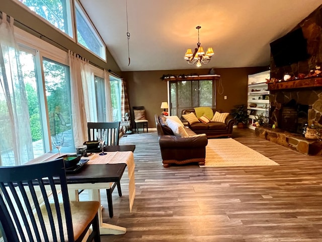
[[[56,185],[56,186],[55,186]],[[5,241],[101,241],[100,202],[70,202],[63,159],[0,167],[0,229]]]

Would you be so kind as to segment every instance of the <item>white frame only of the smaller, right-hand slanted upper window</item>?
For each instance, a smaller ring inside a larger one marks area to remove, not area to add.
[[[102,54],[104,55],[103,57],[98,55],[97,53],[93,52],[91,49],[87,48],[86,46],[84,46],[83,44],[78,42],[78,37],[77,37],[77,20],[76,20],[76,9],[81,13],[82,17],[87,21],[87,24],[89,26],[91,26],[91,31],[95,34],[95,38],[102,44]],[[104,43],[101,35],[99,34],[99,32],[97,31],[96,27],[94,26],[94,24],[92,23],[90,17],[87,15],[86,11],[83,8],[83,5],[78,1],[78,0],[74,0],[74,34],[75,34],[75,40],[76,40],[76,44],[85,48],[86,50],[90,51],[92,54],[94,54],[95,56],[97,56],[98,58],[102,59],[102,61],[107,62],[107,51],[106,51],[106,44]]]

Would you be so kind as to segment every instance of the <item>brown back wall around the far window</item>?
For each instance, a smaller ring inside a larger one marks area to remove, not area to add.
[[[222,90],[219,88],[219,82],[216,81],[217,108],[229,112],[234,105],[247,104],[248,75],[266,70],[267,67],[215,69],[215,73],[221,76],[223,86],[223,93],[219,95],[218,91]],[[163,111],[160,109],[161,102],[167,101],[168,98],[167,81],[160,78],[168,74],[192,73],[207,75],[209,69],[123,72],[122,77],[127,82],[131,114],[132,106],[144,106],[149,121],[148,127],[155,128],[154,114]],[[227,96],[226,100],[224,96]],[[133,114],[131,116],[133,117]]]

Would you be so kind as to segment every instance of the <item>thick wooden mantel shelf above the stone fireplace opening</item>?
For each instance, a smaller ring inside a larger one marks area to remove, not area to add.
[[[268,84],[268,90],[270,91],[308,87],[322,87],[322,77],[305,78]]]

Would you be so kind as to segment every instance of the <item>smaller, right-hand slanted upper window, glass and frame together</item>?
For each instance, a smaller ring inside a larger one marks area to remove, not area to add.
[[[106,61],[105,44],[83,8],[75,1],[77,42]]]

